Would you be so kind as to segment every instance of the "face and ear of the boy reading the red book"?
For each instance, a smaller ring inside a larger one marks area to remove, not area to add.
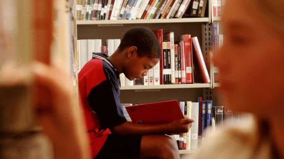
[[[140,79],[148,74],[148,71],[154,67],[160,59],[149,57],[138,57],[136,47],[130,47],[125,60],[124,74],[130,80]]]

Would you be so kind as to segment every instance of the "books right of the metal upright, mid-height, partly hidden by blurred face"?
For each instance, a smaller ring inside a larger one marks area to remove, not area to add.
[[[219,23],[212,23],[212,51],[216,53],[223,46],[223,34],[219,34]],[[214,82],[219,83],[219,69],[214,66]]]

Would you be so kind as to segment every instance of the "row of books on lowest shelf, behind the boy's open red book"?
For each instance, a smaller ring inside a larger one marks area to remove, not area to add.
[[[127,121],[132,121],[125,107],[135,104],[122,104],[123,114]],[[239,114],[234,114],[230,109],[223,106],[213,106],[212,100],[202,100],[198,98],[198,102],[181,101],[180,109],[185,118],[194,119],[191,129],[187,133],[174,135],[180,150],[198,149],[204,137],[206,129],[215,129],[219,125],[223,125],[225,120],[234,120],[239,118]]]

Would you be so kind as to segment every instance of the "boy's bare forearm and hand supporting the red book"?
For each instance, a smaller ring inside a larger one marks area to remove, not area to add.
[[[125,122],[113,127],[112,131],[120,135],[179,134],[189,131],[193,119],[184,118],[167,124],[141,124]]]

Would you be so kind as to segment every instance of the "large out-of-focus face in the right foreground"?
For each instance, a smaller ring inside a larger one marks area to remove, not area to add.
[[[265,116],[283,110],[284,37],[241,1],[226,2],[224,44],[214,64],[220,69],[220,89],[228,106]]]

